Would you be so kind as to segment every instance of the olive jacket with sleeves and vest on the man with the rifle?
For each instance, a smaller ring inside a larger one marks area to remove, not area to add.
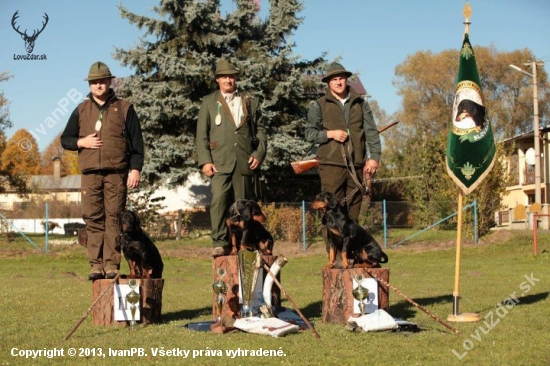
[[[344,166],[341,143],[329,140],[328,130],[348,131],[353,143],[354,165],[362,166],[367,159],[380,161],[380,134],[369,103],[348,86],[349,99],[342,106],[327,88],[325,96],[313,102],[306,123],[306,140],[319,144],[321,164]],[[348,142],[345,143],[345,147]]]

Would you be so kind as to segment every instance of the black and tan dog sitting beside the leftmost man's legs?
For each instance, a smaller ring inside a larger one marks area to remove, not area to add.
[[[129,278],[162,278],[164,264],[160,253],[141,228],[138,215],[133,211],[122,211],[118,215],[120,246],[130,267]]]

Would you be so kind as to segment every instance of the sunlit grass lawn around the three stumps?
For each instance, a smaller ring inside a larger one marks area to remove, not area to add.
[[[60,238],[53,238],[60,239]],[[3,240],[3,239],[2,239]],[[36,238],[37,242],[41,239]],[[43,240],[43,239],[42,239]],[[5,240],[4,240],[5,241]],[[445,242],[445,245],[442,242]],[[452,313],[455,248],[448,239],[388,249],[390,283],[437,317]],[[390,290],[389,313],[419,325],[418,333],[352,333],[321,320],[324,244],[275,243],[289,258],[282,284],[321,339],[309,330],[282,338],[193,332],[189,322],[211,320],[212,261],[208,240],[159,241],[165,264],[162,324],[100,327],[91,315],[63,338],[92,304],[85,249],[52,245],[38,253],[24,239],[0,242],[4,274],[0,302],[0,364],[195,364],[195,365],[549,365],[550,234],[540,233],[539,255],[531,232],[493,233],[462,247],[460,312],[478,313],[476,323],[449,323],[456,335]],[[126,263],[122,264],[127,272]],[[283,305],[292,308],[288,301]],[[24,358],[24,350],[63,350],[64,356]],[[77,355],[68,355],[74,348]],[[109,356],[109,349],[143,348],[147,356]],[[279,356],[226,351],[280,351]],[[189,351],[153,356],[153,350]],[[100,355],[105,355],[103,357]],[[18,356],[12,356],[16,353]],[[81,356],[79,356],[81,353]],[[193,353],[194,358],[193,358]],[[201,354],[202,353],[202,354]],[[86,355],[88,354],[88,355]],[[95,354],[95,356],[94,356]]]

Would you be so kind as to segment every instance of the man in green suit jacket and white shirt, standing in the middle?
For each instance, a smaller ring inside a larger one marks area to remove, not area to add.
[[[227,60],[217,62],[219,90],[204,97],[197,122],[199,167],[210,177],[212,190],[213,257],[229,253],[225,224],[229,207],[235,200],[255,198],[254,171],[260,169],[267,151],[260,103],[237,90],[238,74]]]

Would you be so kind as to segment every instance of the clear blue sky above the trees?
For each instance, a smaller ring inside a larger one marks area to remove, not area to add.
[[[157,0],[120,2],[139,14],[151,14],[150,9],[158,4]],[[120,17],[118,3],[0,0],[0,71],[13,75],[0,84],[11,102],[14,127],[7,131],[8,138],[26,128],[37,138],[40,150],[46,148],[76,107],[73,99],[88,93],[83,79],[94,61],[106,62],[116,76],[131,74],[112,53],[114,47],[131,47],[142,33]],[[230,0],[222,0],[222,4],[222,13],[235,6]],[[372,99],[391,114],[401,103],[392,85],[395,66],[419,50],[458,50],[464,31],[464,4],[462,0],[305,0],[300,14],[303,24],[292,39],[294,52],[304,59],[324,51],[329,59],[341,57],[348,70],[360,73]],[[550,62],[548,0],[471,0],[470,5],[474,49],[490,45],[499,51],[529,48],[538,60]],[[263,0],[262,6],[265,11],[268,0]],[[49,22],[33,51],[45,54],[47,60],[14,59],[26,54],[23,40],[11,25],[16,11],[17,25],[21,31],[29,29],[28,34],[41,26],[44,13],[48,14]],[[52,115],[60,103],[67,113]]]

